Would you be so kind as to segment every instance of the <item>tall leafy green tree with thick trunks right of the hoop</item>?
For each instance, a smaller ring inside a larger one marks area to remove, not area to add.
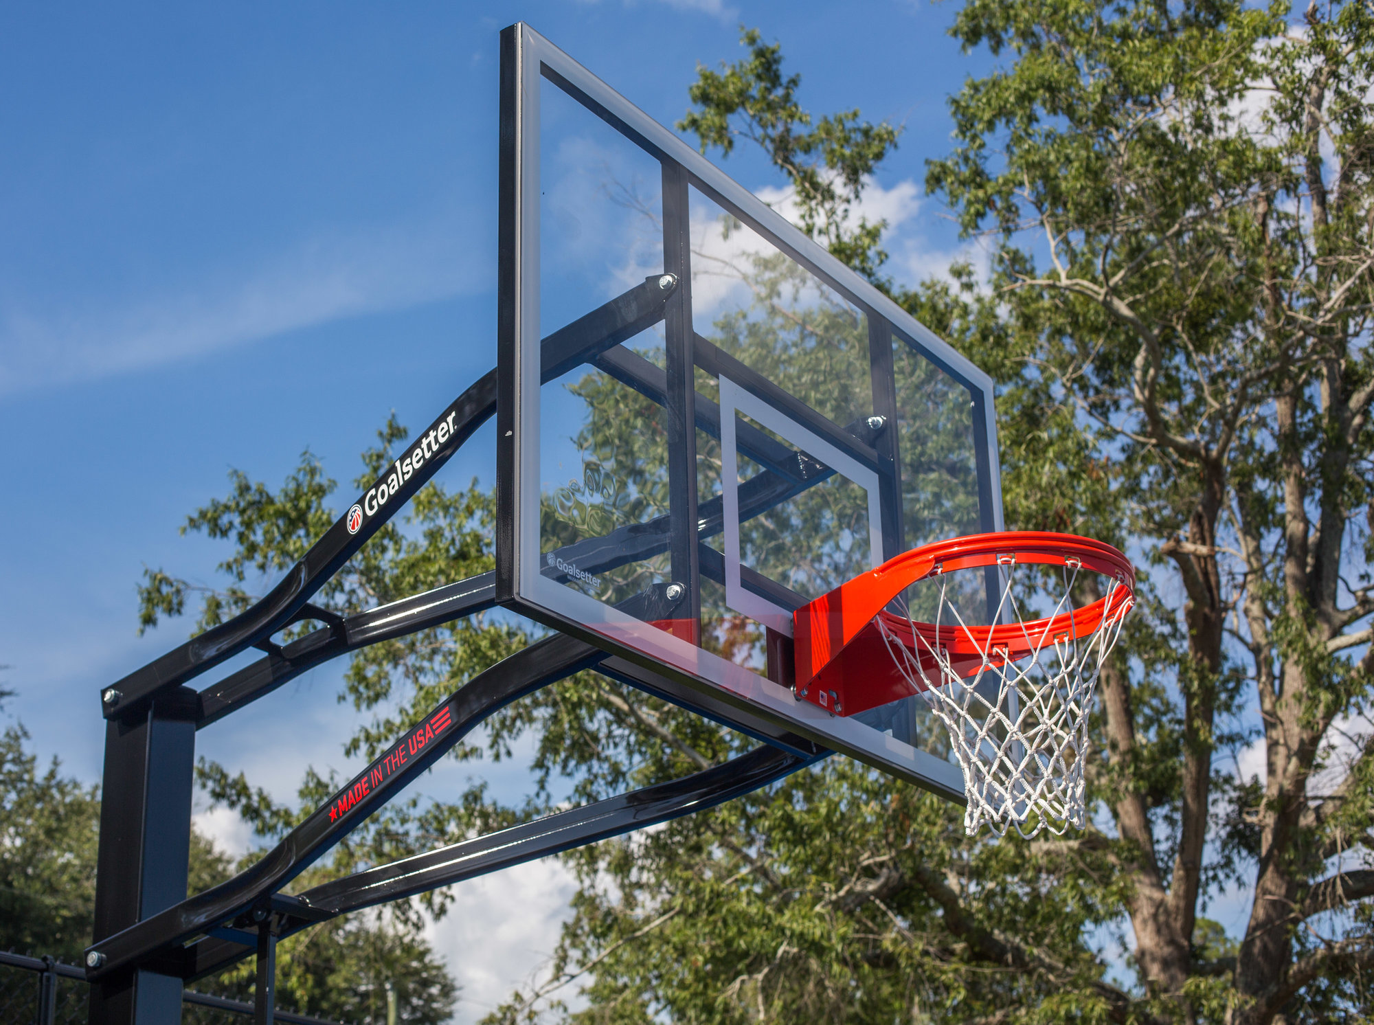
[[[1370,822],[1364,738],[1337,790],[1314,789],[1374,671],[1371,32],[1363,4],[1290,22],[981,0],[955,27],[1015,55],[952,100],[959,148],[929,176],[996,240],[1009,405],[1091,431],[1113,518],[1183,594],[1158,627],[1182,635],[1176,665],[1117,664],[1102,705],[1136,959],[1186,1017],[1206,1000],[1197,910],[1219,877],[1253,888],[1235,966],[1216,966],[1231,1021],[1334,1013],[1374,956],[1351,907],[1374,877],[1341,860]],[[1091,463],[1014,464],[1072,481]],[[1036,514],[1052,510],[1018,510]],[[1139,683],[1156,680],[1151,727]],[[1217,767],[1248,698],[1260,782]]]

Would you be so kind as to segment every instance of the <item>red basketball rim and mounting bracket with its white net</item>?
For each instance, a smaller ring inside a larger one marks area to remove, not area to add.
[[[1026,565],[1059,567],[1036,588],[1048,614],[1025,614]],[[951,592],[952,574],[970,569],[992,570],[991,625],[969,622]],[[1074,607],[1085,573],[1105,578],[1102,596]],[[933,622],[914,618],[904,598],[918,581],[930,581]],[[852,716],[919,695],[963,769],[969,835],[984,823],[1028,838],[1083,829],[1088,714],[1134,602],[1129,559],[1087,537],[1017,532],[927,544],[797,610],[797,697]]]

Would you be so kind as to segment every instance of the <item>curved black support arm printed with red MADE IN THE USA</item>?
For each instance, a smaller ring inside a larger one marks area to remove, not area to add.
[[[92,981],[165,959],[198,933],[232,923],[267,901],[350,830],[385,805],[488,716],[540,687],[596,665],[606,654],[554,635],[474,676],[448,701],[289,833],[262,860],[174,907],[99,940],[87,951]]]

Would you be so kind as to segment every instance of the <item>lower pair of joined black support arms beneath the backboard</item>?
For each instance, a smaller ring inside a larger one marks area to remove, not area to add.
[[[155,965],[166,974],[194,978],[216,970],[206,966],[195,943],[249,952],[246,930],[258,929],[275,914],[304,927],[311,922],[368,907],[397,896],[445,886],[507,864],[543,857],[581,844],[618,835],[653,822],[665,822],[765,786],[827,752],[791,738],[791,752],[760,749],[728,765],[683,780],[609,798],[562,812],[536,823],[480,837],[440,852],[407,859],[397,867],[350,877],[353,882],[317,888],[294,900],[280,896],[309,864],[378,811],[455,743],[510,702],[599,665],[606,654],[584,642],[554,635],[478,673],[447,702],[427,714],[387,754],[337,791],[330,801],[287,834],[265,857],[234,879],[93,944],[87,952],[92,981]],[[342,889],[341,889],[342,888]],[[418,889],[416,889],[418,888]],[[405,894],[398,890],[407,890]],[[394,893],[396,896],[385,896]],[[375,897],[375,899],[374,899]],[[291,926],[287,926],[289,930]],[[225,932],[232,930],[232,932]]]

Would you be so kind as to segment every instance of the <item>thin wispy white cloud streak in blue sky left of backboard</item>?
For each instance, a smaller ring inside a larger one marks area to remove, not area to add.
[[[256,267],[125,306],[0,306],[0,394],[195,357],[342,317],[471,291],[491,276],[462,218],[327,234]]]

